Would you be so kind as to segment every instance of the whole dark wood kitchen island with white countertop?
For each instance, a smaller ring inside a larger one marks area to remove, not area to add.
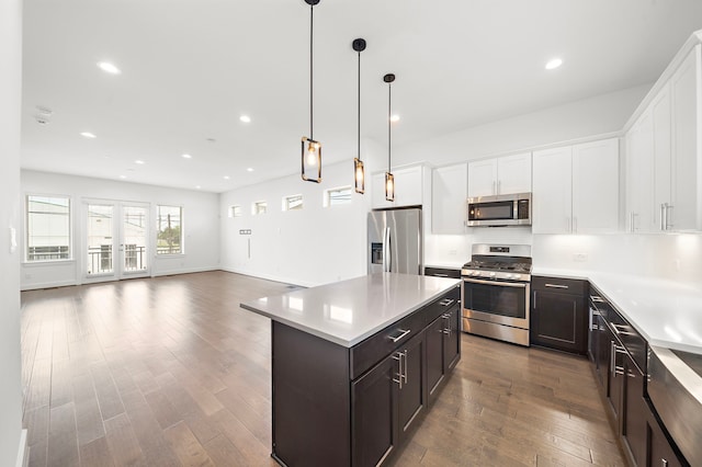
[[[460,281],[378,273],[242,303],[271,319],[272,456],[389,459],[461,357]]]

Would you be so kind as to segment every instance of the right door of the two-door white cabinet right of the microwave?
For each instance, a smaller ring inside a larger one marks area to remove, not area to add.
[[[619,138],[573,147],[573,221],[577,234],[619,229]]]

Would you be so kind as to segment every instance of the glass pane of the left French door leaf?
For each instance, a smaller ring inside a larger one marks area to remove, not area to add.
[[[88,205],[88,274],[113,272],[112,213],[110,205]]]

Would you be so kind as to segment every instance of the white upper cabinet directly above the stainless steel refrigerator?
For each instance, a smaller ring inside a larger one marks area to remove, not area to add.
[[[418,206],[422,204],[422,167],[412,166],[393,170],[395,176],[395,201],[385,200],[385,172],[371,179],[371,205],[374,209],[386,207]]]

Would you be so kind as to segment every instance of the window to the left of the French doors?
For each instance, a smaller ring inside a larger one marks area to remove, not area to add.
[[[70,259],[70,200],[67,196],[26,197],[26,260]]]

